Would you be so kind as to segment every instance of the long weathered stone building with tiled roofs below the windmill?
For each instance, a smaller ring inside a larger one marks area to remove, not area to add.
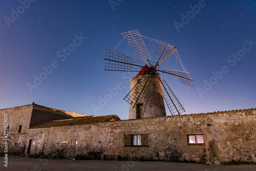
[[[8,120],[8,155],[49,154],[67,158],[118,155],[156,160],[219,163],[256,162],[256,109],[120,120],[116,115],[85,116],[37,104],[0,110]],[[5,146],[0,146],[4,153]]]

